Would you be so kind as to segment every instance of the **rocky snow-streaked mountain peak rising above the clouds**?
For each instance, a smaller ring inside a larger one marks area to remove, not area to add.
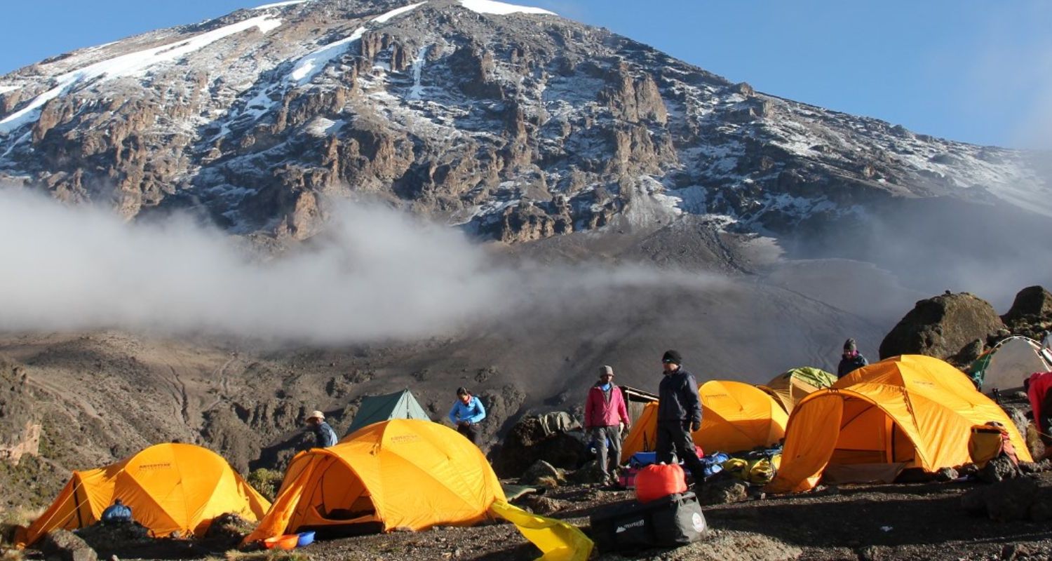
[[[0,77],[0,178],[304,238],[363,193],[528,241],[716,215],[785,233],[951,197],[1052,216],[1027,155],[730,83],[489,0],[300,0]]]

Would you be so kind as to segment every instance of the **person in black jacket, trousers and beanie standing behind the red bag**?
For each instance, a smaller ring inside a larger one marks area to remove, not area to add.
[[[694,450],[691,433],[702,427],[702,400],[697,381],[685,370],[683,357],[668,350],[661,359],[665,370],[658,390],[658,461],[673,463],[675,458],[687,464],[694,476],[694,488],[705,481],[705,465]]]

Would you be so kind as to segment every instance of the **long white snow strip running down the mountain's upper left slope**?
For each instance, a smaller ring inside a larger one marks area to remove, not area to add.
[[[68,94],[78,86],[87,85],[95,80],[109,80],[123,76],[140,76],[144,71],[165,62],[180,60],[186,55],[205,46],[252,27],[261,33],[269,33],[281,26],[281,19],[270,16],[258,16],[238,23],[191,37],[189,39],[166,45],[128,53],[112,59],[90,64],[55,78],[55,87],[37,96],[21,109],[0,120],[0,134],[8,135],[22,126],[40,118],[40,109],[48,101]]]

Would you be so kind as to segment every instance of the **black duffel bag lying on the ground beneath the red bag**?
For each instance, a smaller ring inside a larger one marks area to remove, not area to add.
[[[705,538],[709,529],[693,493],[611,505],[593,514],[590,521],[600,552],[686,545]]]

